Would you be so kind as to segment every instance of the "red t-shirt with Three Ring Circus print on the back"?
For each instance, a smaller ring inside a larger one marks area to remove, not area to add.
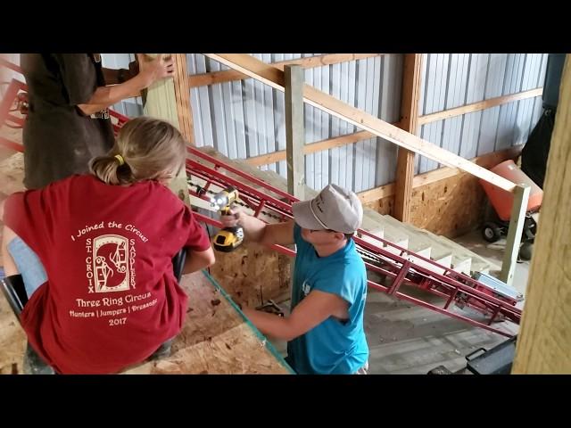
[[[186,293],[171,259],[210,240],[192,210],[157,182],[105,185],[72,176],[5,202],[4,223],[48,281],[26,304],[29,342],[59,373],[117,373],[175,336]]]

